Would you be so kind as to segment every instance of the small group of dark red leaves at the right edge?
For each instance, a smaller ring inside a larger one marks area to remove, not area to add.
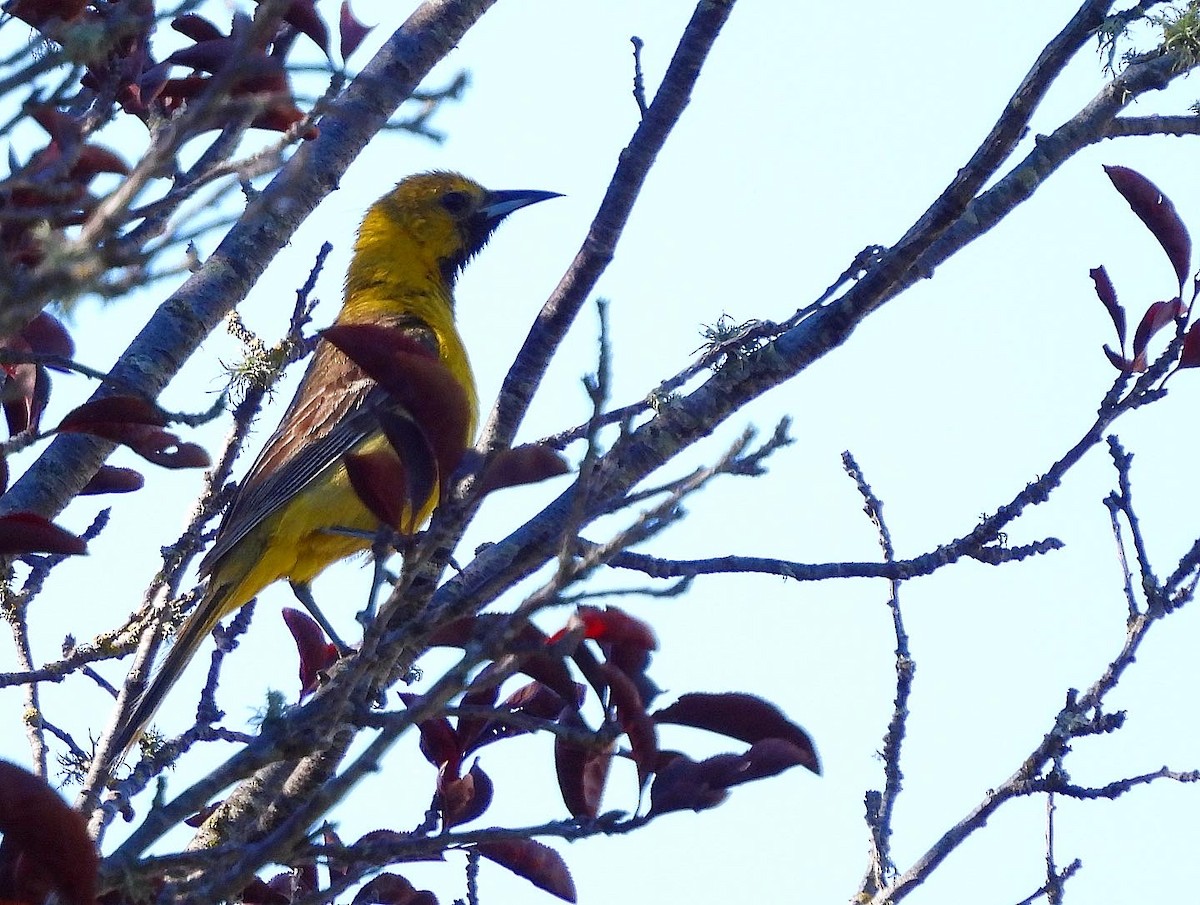
[[[1132,354],[1127,355],[1126,311],[1117,301],[1112,280],[1103,266],[1090,271],[1092,282],[1096,284],[1096,295],[1112,319],[1112,326],[1116,328],[1117,332],[1118,350],[1105,346],[1104,354],[1118,371],[1141,373],[1150,364],[1150,341],[1164,328],[1172,324],[1177,329],[1183,329],[1190,317],[1190,305],[1184,307],[1182,294],[1192,262],[1192,239],[1171,199],[1163,194],[1153,182],[1127,167],[1105,167],[1104,172],[1158,241],[1178,281],[1178,295],[1165,301],[1154,301],[1146,307],[1138,322],[1138,328],[1134,330]],[[1194,282],[1193,301],[1195,301],[1198,292],[1200,292],[1200,281]],[[1198,366],[1200,366],[1200,323],[1193,323],[1184,335],[1178,367]]]

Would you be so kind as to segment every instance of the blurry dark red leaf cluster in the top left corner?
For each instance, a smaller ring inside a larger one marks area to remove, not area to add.
[[[251,126],[283,132],[304,119],[286,70],[295,36],[306,35],[329,55],[329,28],[314,0],[292,0],[275,32],[253,44],[246,40],[251,19],[244,13],[233,16],[228,34],[200,16],[179,16],[172,28],[192,43],[161,61],[151,49],[158,25],[151,0],[7,0],[4,11],[47,40],[70,44],[76,54],[84,47],[98,48],[85,60],[79,80],[88,103],[72,104],[85,113],[30,107],[29,115],[49,133],[49,142],[23,166],[14,163],[0,182],[0,256],[25,268],[42,262],[49,242],[64,228],[91,214],[98,199],[89,185],[97,174],[130,172],[116,154],[88,142],[85,128],[94,128],[97,121],[95,98],[109,98],[110,109],[150,124],[169,119],[212,89],[217,103],[196,124],[196,133],[235,120],[246,107],[242,102],[256,110]],[[71,41],[73,29],[86,34],[86,41]],[[343,59],[370,30],[344,0],[338,20]],[[97,35],[107,40],[97,42]],[[233,103],[223,103],[226,100]],[[316,136],[316,127],[308,126],[302,137]]]

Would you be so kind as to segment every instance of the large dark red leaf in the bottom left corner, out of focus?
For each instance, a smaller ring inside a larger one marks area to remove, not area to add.
[[[46,780],[0,761],[0,875],[12,877],[4,898],[42,901],[56,889],[71,905],[94,905],[96,846],[83,816]]]

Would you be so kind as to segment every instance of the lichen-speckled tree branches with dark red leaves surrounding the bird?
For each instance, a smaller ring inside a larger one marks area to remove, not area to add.
[[[1109,168],[1118,191],[1166,253],[1178,278],[1178,296],[1148,306],[1130,338],[1126,308],[1117,301],[1111,281],[1103,269],[1093,271],[1097,294],[1117,332],[1117,348],[1105,349],[1117,377],[1078,443],[961,537],[918,557],[899,557],[880,497],[847,455],[846,471],[878,533],[880,562],[804,564],[734,552],[703,561],[666,559],[632,547],[678,525],[683,503],[709,483],[762,475],[768,456],[790,442],[786,424],[758,446],[746,432],[728,449],[709,456],[707,466],[647,487],[660,469],[706,440],[750,401],[839,349],[866,317],[918,280],[930,277],[937,265],[1015,210],[1080,150],[1105,137],[1195,133],[1194,122],[1186,116],[1122,115],[1133,101],[1171,84],[1196,65],[1198,56],[1181,37],[1186,23],[1156,18],[1152,10],[1158,5],[1141,2],[1110,16],[1111,1],[1081,4],[1039,54],[977,151],[928,210],[892,246],[864,248],[820,298],[797,300],[792,317],[782,323],[718,323],[709,329],[695,361],[647,388],[641,400],[623,406],[612,406],[608,398],[608,336],[602,326],[596,374],[587,384],[593,401],[590,416],[540,444],[514,448],[551,359],[616,254],[650,167],[682,116],[733,2],[697,2],[656,91],[648,91],[642,46],[635,41],[634,96],[640,121],[608,191],[578,253],[517,353],[478,449],[473,454],[450,450],[450,459],[461,459],[463,465],[448,481],[452,492],[428,529],[415,535],[380,529],[372,538],[377,568],[360,617],[365,625],[361,642],[358,647],[335,643],[308,617],[288,611],[284,618],[298,649],[299,699],[292,706],[272,700],[259,732],[251,737],[222,723],[215,699],[222,661],[250,618],[251,607],[244,609],[220,633],[218,653],[194,723],[178,738],[149,739],[127,775],[107,775],[98,759],[92,765],[79,799],[89,813],[91,832],[102,837],[118,815],[139,820],[100,869],[101,886],[124,900],[143,895],[161,900],[241,897],[295,903],[332,901],[362,885],[356,900],[430,901],[432,893],[414,889],[394,868],[457,851],[468,861],[472,898],[476,894],[474,871],[486,858],[570,900],[575,891],[565,862],[539,838],[632,832],[666,813],[712,808],[746,781],[797,766],[818,772],[816,748],[808,733],[778,707],[751,694],[684,693],[673,703],[658,706],[660,690],[652,678],[652,654],[659,640],[653,629],[618,607],[589,603],[598,594],[611,593],[594,589],[594,576],[625,569],[684,580],[664,593],[680,593],[688,582],[704,575],[736,571],[798,580],[888,580],[896,695],[883,744],[883,785],[866,796],[871,857],[859,900],[904,898],[1000,807],[1030,795],[1046,796],[1049,815],[1046,882],[1032,898],[1061,898],[1063,885],[1079,864],[1058,867],[1052,843],[1054,796],[1116,797],[1154,781],[1195,780],[1192,771],[1164,767],[1087,787],[1070,783],[1062,766],[1073,739],[1120,730],[1122,717],[1104,708],[1105,696],[1132,665],[1151,627],[1190,600],[1200,580],[1200,540],[1171,577],[1165,582],[1154,577],[1130,502],[1128,457],[1111,440],[1118,490],[1110,497],[1109,509],[1118,544],[1128,532],[1134,553],[1129,562],[1122,546],[1129,600],[1124,646],[1087,691],[1068,695],[1052,727],[1010,779],[989,792],[907,869],[895,864],[892,843],[892,815],[904,792],[900,761],[914,682],[900,583],[950,568],[962,558],[1004,564],[1057,550],[1055,538],[1009,547],[1006,533],[1032,507],[1045,502],[1091,450],[1106,442],[1118,418],[1159,403],[1169,378],[1200,365],[1200,329],[1192,322],[1196,284],[1192,299],[1183,301],[1190,244],[1182,221],[1157,187],[1133,170]],[[162,573],[142,610],[121,629],[91,642],[72,643],[59,660],[38,665],[28,639],[28,600],[56,557],[80,549],[80,538],[65,535],[48,520],[89,489],[136,489],[131,475],[104,465],[115,443],[160,465],[199,463],[198,448],[167,431],[172,424],[198,419],[162,410],[155,401],[160,390],[204,337],[227,323],[234,306],[336,185],[354,155],[377,132],[395,125],[392,116],[406,98],[420,106],[408,120],[410,130],[434,134],[428,114],[457,96],[463,83],[455,80],[445,91],[424,95],[418,95],[416,86],[490,6],[486,0],[426,2],[360,73],[350,76],[332,66],[322,70],[328,89],[305,95],[290,88],[298,76],[289,62],[296,43],[311,41],[329,55],[328,29],[312,2],[264,0],[253,17],[234,17],[228,28],[200,18],[190,6],[181,8],[172,26],[190,43],[162,60],[152,56],[149,46],[158,19],[136,14],[138,4],[12,0],[7,5],[12,16],[64,47],[71,46],[77,29],[97,22],[115,29],[114,43],[106,48],[103,59],[84,60],[65,77],[54,70],[66,65],[56,54],[48,58],[53,62],[46,67],[28,59],[11,61],[14,73],[37,78],[55,73],[68,86],[78,79],[79,90],[86,92],[73,96],[72,88],[55,90],[47,104],[29,113],[49,140],[0,181],[0,266],[7,269],[8,277],[0,299],[0,329],[7,336],[0,361],[13,434],[5,451],[55,434],[0,498],[0,552],[19,557],[22,568],[30,569],[19,591],[13,585],[0,588],[0,605],[14,627],[18,651],[18,670],[0,677],[0,685],[22,685],[31,713],[40,714],[38,684],[46,681],[85,677],[115,693],[115,685],[94,667],[103,659],[128,654],[136,646],[134,635],[140,641],[118,708],[139,685],[161,639],[190,603],[188,595],[180,593],[184,570],[205,540],[204,525],[226,499],[223,486],[262,402],[262,384],[256,383],[236,406],[235,426],[210,474],[205,496],[184,537],[164,555]],[[146,8],[152,6],[142,5],[143,13]],[[1050,134],[1038,137],[1034,148],[1014,161],[1033,110],[1067,64],[1098,36],[1115,48],[1127,40],[1123,35],[1129,25],[1139,22],[1160,25],[1162,44],[1115,66],[1111,80],[1096,98]],[[341,32],[344,59],[361,40],[361,26],[353,17],[343,18]],[[305,101],[307,109],[300,109],[298,97],[310,98]],[[133,166],[92,139],[103,122],[119,114],[138,116],[148,127],[145,154]],[[259,127],[282,137],[264,151],[239,156],[247,130]],[[217,132],[215,138],[212,131]],[[208,142],[205,150],[185,172],[178,164],[179,149],[202,134]],[[215,253],[204,260],[187,260],[191,276],[164,300],[110,371],[101,373],[73,361],[61,324],[41,311],[48,298],[116,292],[122,281],[163,272],[154,270],[160,258],[194,235],[180,222],[185,203],[194,200],[202,188],[232,185],[230,176],[245,181],[264,173],[275,173],[270,184],[260,192],[245,191],[245,210]],[[103,197],[90,196],[94,180],[115,174],[125,181]],[[164,192],[148,199],[148,187],[158,180],[166,180]],[[48,224],[53,241],[35,234],[30,226],[35,222]],[[311,337],[302,334],[308,316],[306,299],[307,292],[301,290],[284,340],[277,346],[266,348],[252,335],[244,335],[247,347],[257,347],[258,354],[251,356],[242,377],[265,373],[274,378],[311,347]],[[239,329],[236,319],[228,323]],[[1172,326],[1165,349],[1156,354],[1159,337]],[[403,356],[394,354],[388,364],[389,353],[396,349],[389,347],[386,335],[365,337],[360,331],[355,337],[353,328],[338,326],[326,331],[325,338],[379,386],[402,382],[397,380],[395,361]],[[103,383],[90,402],[72,410],[54,431],[43,432],[38,416],[48,386],[47,368],[54,367]],[[402,370],[400,377],[406,377]],[[418,427],[426,442],[437,433],[427,421]],[[484,501],[506,486],[560,474],[563,460],[552,449],[574,443],[584,444],[584,451],[571,485],[524,526],[458,568],[454,557],[461,556],[460,541]],[[442,460],[438,463],[444,465]],[[402,509],[407,499],[403,493],[394,492],[396,489],[385,481],[374,481],[367,471],[355,472],[349,466],[348,471],[359,497],[379,521],[398,523],[397,507]],[[89,535],[102,527],[98,521]],[[401,556],[398,575],[386,565],[394,555]],[[454,574],[448,577],[451,568]],[[521,585],[534,575],[540,575],[536,587]],[[1135,593],[1139,588],[1144,599]],[[637,588],[636,593],[655,592]],[[557,630],[536,628],[532,622],[535,616],[553,619]],[[379,708],[396,682],[410,676],[419,658],[434,647],[461,653],[444,672],[431,677],[420,694],[401,695],[403,709]],[[660,745],[658,732],[664,725],[702,730],[740,744],[737,750],[694,759]],[[551,814],[528,826],[464,828],[488,813],[492,799],[492,779],[476,753],[535,732],[552,738],[554,774],[570,819]],[[41,715],[29,721],[28,736],[34,766],[42,775],[48,772],[48,753],[55,739],[70,753],[74,771],[83,769],[82,761],[90,754],[88,745]],[[355,747],[360,738],[366,744]],[[163,795],[138,816],[137,796],[157,783],[176,759],[212,739],[236,741],[239,747],[211,773],[187,787],[172,789],[169,797]],[[419,741],[437,769],[431,804],[415,826],[389,827],[352,843],[343,843],[328,826],[314,831],[353,789],[370,781],[385,754],[402,739]],[[636,775],[636,783],[624,789],[632,803],[624,811],[604,811],[611,767],[620,761],[632,765]],[[36,795],[43,795],[41,786],[34,787]],[[46,810],[58,815],[53,820],[61,819],[60,811]],[[0,808],[0,831],[6,843],[14,838],[14,845],[24,846],[17,851],[32,865],[30,883],[49,883],[67,900],[86,900],[77,897],[92,893],[86,883],[94,882],[94,865],[89,862],[84,869],[86,881],[74,873],[58,883],[47,880],[46,874],[58,869],[43,851],[47,827],[36,820],[11,821],[10,813]],[[188,851],[145,857],[151,845],[188,821],[197,829]],[[94,856],[90,843],[82,845]],[[0,849],[0,867],[6,857],[17,856]],[[264,871],[271,865],[288,870],[268,881]],[[29,888],[36,893],[42,886]]]

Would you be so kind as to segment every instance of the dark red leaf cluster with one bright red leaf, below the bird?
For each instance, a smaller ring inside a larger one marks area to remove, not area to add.
[[[476,633],[503,624],[504,618],[488,613],[463,619],[443,629],[432,642],[464,646]],[[803,766],[820,772],[816,749],[808,735],[757,697],[685,695],[671,707],[650,714],[647,707],[658,695],[658,688],[647,669],[650,652],[656,647],[650,628],[617,607],[580,607],[552,637],[526,625],[512,645],[514,659],[505,660],[503,670],[506,675],[515,666],[533,681],[497,703],[496,676],[500,666],[493,664],[475,678],[461,701],[462,707],[494,711],[497,715],[464,714],[457,725],[445,717],[436,717],[420,724],[421,749],[439,771],[438,791],[458,779],[458,768],[470,753],[484,744],[530,731],[529,718],[534,725],[544,721],[548,730],[560,727],[554,742],[559,791],[570,813],[581,819],[594,819],[600,813],[619,736],[629,741],[628,756],[637,768],[640,785],[644,787],[650,783],[653,815],[680,808],[712,807],[724,798],[730,786],[774,775],[788,767]],[[580,671],[587,685],[577,685],[571,679],[568,661]],[[607,714],[605,726],[596,732],[588,729],[580,714],[587,687],[596,694]],[[410,706],[420,701],[412,695],[404,700]],[[522,719],[512,725],[512,720],[505,720],[505,714]],[[695,762],[684,754],[659,748],[660,724],[704,729],[745,742],[750,748],[742,754]],[[479,772],[478,763],[472,772]],[[473,781],[478,786],[478,779]],[[470,807],[461,803],[461,795],[455,798],[452,810],[443,802],[443,821],[454,826],[480,816],[490,795],[488,784],[487,797],[476,795]]]

